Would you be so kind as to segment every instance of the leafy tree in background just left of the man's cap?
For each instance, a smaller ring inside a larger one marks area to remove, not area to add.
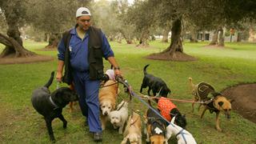
[[[75,12],[82,2],[73,0],[29,0],[28,15],[34,29],[44,31],[49,38],[46,48],[56,48],[62,32],[75,24]],[[88,4],[89,2],[83,2]]]

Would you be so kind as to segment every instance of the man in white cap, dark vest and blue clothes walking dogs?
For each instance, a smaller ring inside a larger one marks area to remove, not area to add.
[[[79,95],[79,105],[86,117],[90,132],[94,134],[94,141],[102,141],[102,126],[99,119],[100,108],[98,90],[103,76],[102,57],[114,66],[114,74],[121,76],[119,66],[106,36],[100,29],[91,25],[90,10],[86,7],[78,8],[76,12],[76,26],[63,34],[58,45],[58,82],[70,84]],[[65,66],[65,74],[62,70]]]

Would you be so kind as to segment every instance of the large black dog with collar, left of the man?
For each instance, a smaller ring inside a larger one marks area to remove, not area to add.
[[[68,87],[61,87],[50,94],[50,90],[48,88],[53,80],[54,72],[51,73],[51,77],[45,86],[39,87],[33,91],[31,98],[34,109],[44,116],[51,141],[55,141],[51,122],[54,118],[60,118],[63,122],[63,128],[66,128],[67,122],[62,115],[62,108],[69,102],[78,99],[78,95]]]

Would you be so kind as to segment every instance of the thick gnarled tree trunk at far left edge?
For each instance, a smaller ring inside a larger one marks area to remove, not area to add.
[[[18,57],[30,57],[35,55],[33,52],[26,50],[17,40],[14,38],[8,38],[4,34],[0,33],[0,43],[6,46],[6,48],[0,54],[0,58],[18,58]]]

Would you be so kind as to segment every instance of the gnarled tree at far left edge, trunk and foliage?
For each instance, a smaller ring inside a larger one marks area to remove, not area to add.
[[[26,19],[25,3],[22,0],[6,0],[0,2],[1,12],[8,26],[7,35],[0,34],[0,42],[6,48],[0,54],[0,58],[5,57],[30,57],[35,55],[22,46],[22,38],[18,30]]]

